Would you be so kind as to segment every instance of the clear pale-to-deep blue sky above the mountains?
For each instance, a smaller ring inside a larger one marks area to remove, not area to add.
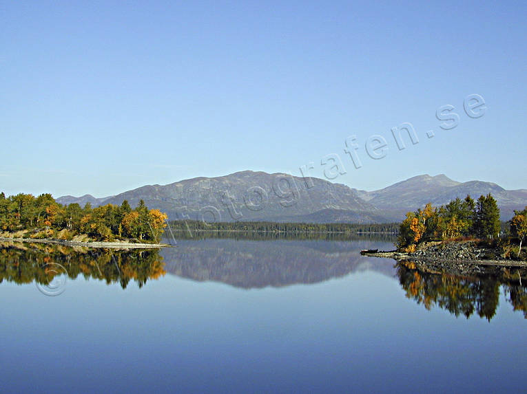
[[[309,162],[324,177],[331,153],[354,188],[422,173],[527,188],[526,19],[524,1],[3,1],[0,190],[103,197]],[[402,122],[419,143],[399,151]]]

